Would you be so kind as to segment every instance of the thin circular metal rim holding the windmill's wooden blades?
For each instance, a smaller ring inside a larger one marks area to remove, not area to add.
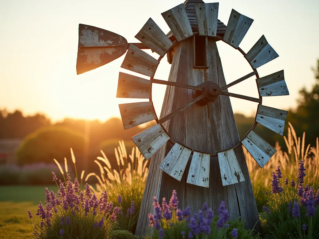
[[[199,32],[193,32],[193,35],[190,36],[190,37],[193,37],[194,35],[199,35]],[[203,35],[203,36],[204,36],[204,35]],[[188,37],[188,38],[190,38],[190,37]],[[225,42],[227,45],[233,47],[233,46],[230,45],[228,42],[224,41],[224,39],[223,39],[222,37],[220,37],[220,36],[216,36],[216,37],[207,36],[207,37],[211,37],[211,38],[215,38],[215,39],[221,40],[221,41]],[[188,39],[188,38],[186,38],[186,39]],[[186,40],[186,39],[184,39],[184,40]],[[177,41],[177,40],[173,41],[173,45],[167,50],[167,52],[168,52],[170,49],[172,49],[174,46],[176,46],[177,44],[179,44],[180,42],[181,42],[181,41]],[[256,71],[255,76],[256,76],[256,86],[257,86],[257,79],[259,79],[259,74],[258,74],[257,69],[254,69],[254,68],[252,67],[252,65],[250,64],[250,62],[249,62],[249,61],[247,60],[247,58],[245,57],[246,53],[245,53],[240,47],[238,47],[238,48],[233,47],[233,48],[236,49],[236,50],[238,50],[238,51],[244,56],[244,58],[246,59],[246,61],[249,63],[250,67],[251,67],[254,71]],[[160,61],[163,59],[163,57],[167,54],[167,52],[166,52],[163,56],[159,56],[159,58],[157,59],[157,61],[160,62]],[[159,66],[159,64],[157,65],[157,68],[158,68],[158,66]],[[157,68],[155,69],[155,73],[156,73],[156,71],[157,71]],[[154,75],[155,75],[155,73],[154,73]],[[154,79],[154,76],[151,76],[150,80],[152,81],[153,79]],[[153,83],[152,83],[152,86],[153,86]],[[152,88],[153,88],[153,87],[152,87]],[[258,86],[257,86],[257,90],[258,90]],[[260,96],[259,91],[258,91],[258,94],[259,94],[259,99],[260,99],[260,102],[258,103],[258,105],[261,105],[261,104],[263,103],[263,97]],[[152,102],[152,92],[151,92],[151,98],[149,99],[149,101]],[[153,105],[153,108],[154,108],[154,105]],[[154,109],[154,112],[155,112],[155,109]],[[257,112],[256,112],[256,114],[257,114]],[[160,124],[160,125],[163,127],[163,129],[166,131],[167,135],[169,136],[168,142],[170,142],[172,145],[174,145],[176,142],[175,142],[174,140],[172,140],[172,137],[168,134],[168,132],[167,132],[167,130],[165,129],[165,127],[163,126],[163,124],[159,123],[159,119],[158,119],[158,117],[157,117],[156,112],[155,112],[155,115],[156,115],[156,119],[155,119],[156,123],[157,123],[157,124]],[[255,120],[256,120],[256,115],[255,115]],[[234,149],[234,150],[235,150],[236,148],[239,148],[239,147],[242,145],[241,141],[247,136],[247,134],[249,134],[249,132],[250,132],[251,130],[254,130],[254,129],[256,128],[256,126],[257,126],[257,122],[255,121],[254,124],[252,125],[252,127],[250,128],[250,130],[245,134],[245,136],[239,141],[238,144],[236,144],[236,145],[235,145],[234,147],[232,147],[232,148],[224,149],[224,150],[222,150],[222,151],[226,151],[226,150],[229,150],[229,149]],[[236,127],[237,127],[237,125],[236,125]],[[237,129],[237,130],[238,130],[238,129]],[[185,146],[186,146],[187,148],[189,148],[187,145],[185,145]],[[190,148],[190,149],[192,149],[192,148]],[[195,150],[195,151],[196,151],[196,150]],[[193,152],[194,152],[194,149],[192,149],[192,153],[191,153],[191,154],[193,154]],[[217,156],[218,156],[217,153],[216,153],[216,154],[210,153],[210,154],[211,154],[211,157],[217,157]]]

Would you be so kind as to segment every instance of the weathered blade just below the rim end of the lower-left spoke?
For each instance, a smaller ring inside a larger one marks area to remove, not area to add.
[[[169,136],[165,129],[157,124],[133,136],[132,140],[143,156],[149,159],[169,140]]]

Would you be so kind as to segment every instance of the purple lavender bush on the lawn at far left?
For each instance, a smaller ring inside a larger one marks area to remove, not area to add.
[[[58,186],[56,174],[52,172],[52,175]],[[72,183],[70,174],[67,174],[66,179],[66,186],[59,180],[58,195],[45,189],[45,205],[40,202],[35,214],[37,219],[34,220],[28,210],[33,238],[110,238],[120,208],[113,208],[106,190],[98,199],[91,194],[89,185],[86,184],[84,195],[77,178]]]

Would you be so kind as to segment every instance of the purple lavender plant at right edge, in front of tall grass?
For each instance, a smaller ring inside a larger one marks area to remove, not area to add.
[[[280,166],[272,172],[271,194],[262,221],[263,235],[269,238],[319,238],[319,190],[305,185],[306,169],[299,161],[296,181],[285,178]]]

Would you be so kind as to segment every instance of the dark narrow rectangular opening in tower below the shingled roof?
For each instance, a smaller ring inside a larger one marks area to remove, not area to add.
[[[207,67],[207,37],[206,36],[194,36],[194,67],[208,68]]]

